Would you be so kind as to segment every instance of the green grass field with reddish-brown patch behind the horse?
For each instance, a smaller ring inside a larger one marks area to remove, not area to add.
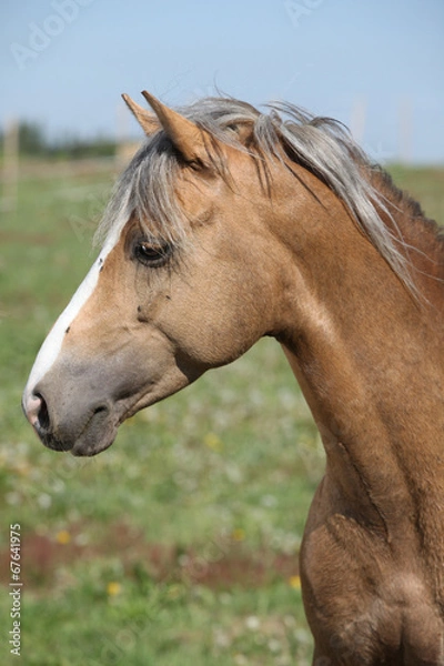
[[[444,221],[443,169],[392,172]],[[44,450],[21,414],[38,347],[94,256],[111,182],[29,176],[1,218],[0,663],[18,663],[19,524],[27,666],[310,664],[297,551],[324,463],[278,344],[141,412],[91,460]]]

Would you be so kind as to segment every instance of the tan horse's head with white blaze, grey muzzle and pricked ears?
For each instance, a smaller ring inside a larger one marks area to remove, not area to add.
[[[148,141],[23,395],[42,442],[75,455],[108,447],[125,418],[276,326],[282,250],[264,223],[272,205],[248,149],[252,122],[235,125],[231,114],[219,140],[144,97],[154,114],[124,99]]]

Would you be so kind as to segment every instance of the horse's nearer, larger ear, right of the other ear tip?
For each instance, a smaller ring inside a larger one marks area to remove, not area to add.
[[[209,153],[206,145],[210,137],[205,137],[206,132],[198,128],[191,120],[162,104],[145,90],[142,94],[183,159],[186,162],[208,164]]]

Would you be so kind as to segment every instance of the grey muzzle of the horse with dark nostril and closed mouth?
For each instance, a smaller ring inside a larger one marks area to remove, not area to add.
[[[176,359],[162,336],[154,342],[152,354],[130,346],[95,360],[64,353],[40,376],[31,371],[22,406],[42,443],[95,455],[111,446],[123,421],[202,374]]]

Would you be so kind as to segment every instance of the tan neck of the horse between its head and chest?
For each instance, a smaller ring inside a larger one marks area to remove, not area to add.
[[[293,324],[279,339],[325,446],[327,511],[387,535],[405,534],[407,522],[424,541],[443,532],[431,509],[431,496],[436,506],[444,497],[442,322],[428,302],[436,291],[418,303],[336,198],[310,186],[324,202],[312,201],[306,215],[322,230],[311,258],[294,219],[281,220],[295,278],[285,302]]]

